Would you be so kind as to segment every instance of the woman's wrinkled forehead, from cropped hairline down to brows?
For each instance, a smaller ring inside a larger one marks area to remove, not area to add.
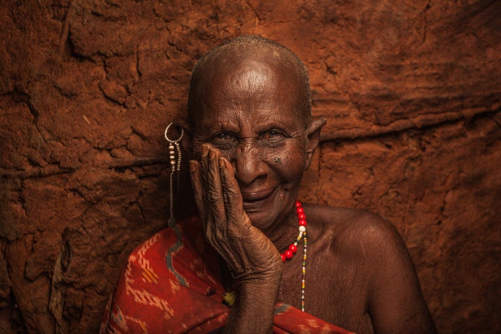
[[[290,63],[254,54],[227,60],[199,72],[191,91],[193,123],[212,126],[273,119],[295,125],[296,120],[308,118],[303,115],[309,113],[304,110],[306,83]]]

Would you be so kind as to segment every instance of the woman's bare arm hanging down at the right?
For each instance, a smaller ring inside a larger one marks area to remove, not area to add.
[[[371,216],[362,238],[369,255],[369,315],[374,333],[436,333],[404,241]]]

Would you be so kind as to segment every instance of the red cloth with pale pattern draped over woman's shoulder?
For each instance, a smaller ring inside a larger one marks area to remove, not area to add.
[[[100,333],[218,333],[230,308],[216,251],[198,216],[161,230],[130,255]],[[278,303],[273,333],[351,333]]]

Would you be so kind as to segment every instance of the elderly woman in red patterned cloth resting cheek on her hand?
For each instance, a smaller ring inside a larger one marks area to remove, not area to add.
[[[199,216],[134,250],[102,333],[435,333],[390,223],[296,200],[325,120],[292,51],[255,36],[212,49],[188,109]]]

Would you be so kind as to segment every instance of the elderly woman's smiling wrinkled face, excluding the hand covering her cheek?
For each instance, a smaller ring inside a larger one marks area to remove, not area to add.
[[[244,210],[265,233],[294,207],[307,166],[304,93],[290,72],[263,59],[212,71],[200,84],[193,125],[193,156],[200,157],[203,143],[221,151],[234,168]]]

